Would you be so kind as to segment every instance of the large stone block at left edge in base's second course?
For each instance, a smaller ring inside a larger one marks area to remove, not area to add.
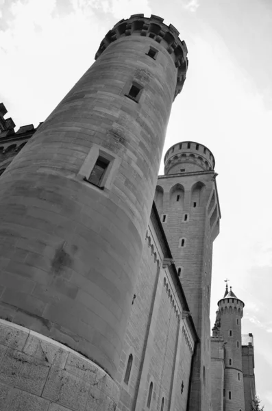
[[[2,382],[41,395],[49,373],[49,364],[27,356],[16,349],[8,349],[1,363]]]

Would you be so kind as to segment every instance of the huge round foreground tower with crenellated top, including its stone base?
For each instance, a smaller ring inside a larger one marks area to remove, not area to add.
[[[85,410],[86,392],[90,409],[116,403],[166,126],[186,77],[178,36],[158,16],[117,23],[1,176],[0,316],[21,338],[6,354],[18,391],[8,410],[18,398],[26,411],[60,397]]]

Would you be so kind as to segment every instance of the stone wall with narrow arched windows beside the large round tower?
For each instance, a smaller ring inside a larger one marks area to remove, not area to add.
[[[186,411],[194,340],[186,316],[182,319],[182,301],[178,299],[169,269],[163,262],[158,236],[149,222],[117,373],[121,393],[119,411],[147,410],[151,382],[150,410],[161,409],[164,399],[164,411],[175,408]],[[133,363],[126,384],[124,378],[130,354]]]

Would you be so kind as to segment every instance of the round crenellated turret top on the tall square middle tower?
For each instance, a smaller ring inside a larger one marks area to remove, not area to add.
[[[164,155],[164,174],[210,171],[215,166],[214,155],[206,146],[195,141],[179,142]]]

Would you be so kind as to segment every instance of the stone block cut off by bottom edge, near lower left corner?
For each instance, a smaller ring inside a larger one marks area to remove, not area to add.
[[[47,411],[49,401],[25,391],[13,390],[5,411]]]

